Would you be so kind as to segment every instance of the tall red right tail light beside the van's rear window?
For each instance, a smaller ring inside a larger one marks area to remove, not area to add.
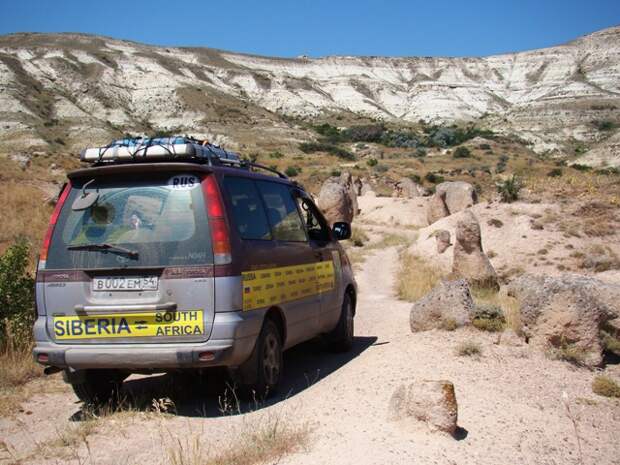
[[[216,265],[224,265],[232,261],[230,250],[230,234],[224,216],[224,204],[215,176],[210,175],[203,179],[202,190],[207,201],[207,215],[211,228],[211,243],[213,246],[213,261]]]

